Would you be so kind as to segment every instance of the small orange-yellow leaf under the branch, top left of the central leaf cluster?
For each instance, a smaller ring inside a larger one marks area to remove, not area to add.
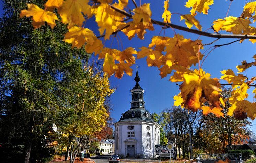
[[[152,41],[149,44],[149,48],[154,47],[155,50],[162,52],[166,46],[166,43],[170,37],[162,37],[162,36],[153,36]]]

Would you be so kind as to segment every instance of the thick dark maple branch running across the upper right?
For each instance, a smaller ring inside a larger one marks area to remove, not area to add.
[[[127,13],[124,10],[118,9],[115,6],[108,4],[112,9],[114,9],[115,11],[127,16],[127,17],[132,17],[131,14]],[[237,35],[237,34],[219,34],[219,33],[208,33],[208,32],[203,32],[203,31],[199,31],[196,29],[189,29],[187,27],[183,27],[183,26],[179,26],[176,24],[171,24],[171,23],[165,23],[165,22],[161,22],[161,21],[157,21],[157,20],[153,20],[151,19],[151,23],[153,24],[158,24],[161,26],[170,26],[172,28],[175,29],[179,29],[179,30],[183,30],[186,32],[190,32],[190,33],[195,33],[197,35],[203,35],[203,36],[207,36],[207,37],[213,37],[213,38],[237,38],[237,39],[256,39],[256,35]]]

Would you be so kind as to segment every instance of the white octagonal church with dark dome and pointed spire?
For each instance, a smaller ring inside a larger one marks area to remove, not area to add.
[[[156,158],[155,145],[160,144],[160,126],[145,109],[138,69],[134,80],[136,84],[131,89],[131,108],[114,123],[115,155],[120,158]]]

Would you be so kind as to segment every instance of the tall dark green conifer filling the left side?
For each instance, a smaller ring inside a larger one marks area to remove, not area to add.
[[[90,56],[84,49],[72,49],[62,41],[66,25],[56,22],[54,29],[46,24],[34,30],[29,18],[20,19],[26,3],[43,7],[45,1],[5,0],[4,15],[0,18],[0,159],[3,162],[17,162],[15,159],[20,161],[21,156],[24,163],[49,157],[44,149],[39,150],[45,147],[40,142],[59,118],[59,110],[72,98],[75,91],[70,90],[70,83],[85,78],[83,65]],[[32,157],[33,148],[42,154],[35,153]]]

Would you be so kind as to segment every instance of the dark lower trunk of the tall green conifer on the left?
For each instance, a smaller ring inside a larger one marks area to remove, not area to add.
[[[29,158],[30,158],[30,152],[31,152],[31,147],[32,147],[32,140],[33,140],[33,130],[35,127],[35,122],[36,120],[34,119],[34,116],[31,115],[30,116],[30,127],[29,127],[29,134],[26,138],[26,143],[25,143],[25,151],[24,151],[24,163],[28,163],[29,162]]]

